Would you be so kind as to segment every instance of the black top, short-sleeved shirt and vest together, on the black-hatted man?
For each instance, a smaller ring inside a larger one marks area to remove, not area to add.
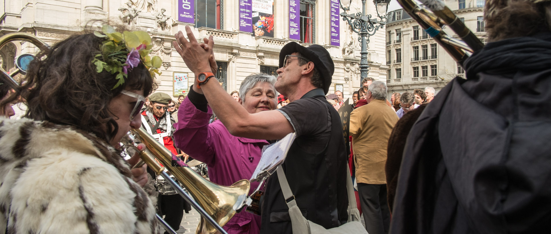
[[[278,109],[293,125],[296,139],[283,163],[289,187],[306,219],[326,229],[347,219],[347,154],[341,119],[321,89]],[[289,208],[277,174],[266,186],[261,233],[292,233]]]

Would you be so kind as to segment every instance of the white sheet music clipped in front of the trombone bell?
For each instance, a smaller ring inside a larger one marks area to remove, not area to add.
[[[262,157],[256,166],[255,172],[252,173],[250,181],[263,181],[267,176],[276,171],[277,166],[283,164],[287,152],[293,141],[296,133],[289,133],[276,143],[269,144],[262,148]]]

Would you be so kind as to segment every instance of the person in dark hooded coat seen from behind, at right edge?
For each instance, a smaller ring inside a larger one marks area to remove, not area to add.
[[[551,4],[492,0],[489,43],[425,108],[404,148],[391,233],[551,229]]]

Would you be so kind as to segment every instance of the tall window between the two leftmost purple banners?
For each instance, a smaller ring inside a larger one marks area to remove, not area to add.
[[[222,0],[195,1],[195,27],[220,29],[220,1]]]

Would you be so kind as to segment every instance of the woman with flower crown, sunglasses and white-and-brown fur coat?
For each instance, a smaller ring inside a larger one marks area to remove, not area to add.
[[[158,232],[145,168],[131,170],[118,149],[155,88],[150,42],[107,25],[71,36],[31,64],[24,93],[0,102],[23,95],[29,107],[0,118],[0,232]]]

